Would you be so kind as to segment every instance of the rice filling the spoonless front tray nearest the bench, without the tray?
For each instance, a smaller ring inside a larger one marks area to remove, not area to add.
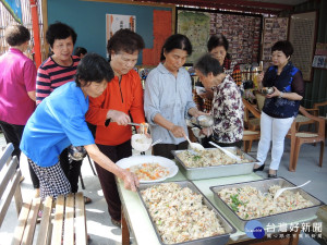
[[[225,234],[213,210],[203,204],[203,196],[175,183],[146,188],[141,195],[154,223],[167,244]]]

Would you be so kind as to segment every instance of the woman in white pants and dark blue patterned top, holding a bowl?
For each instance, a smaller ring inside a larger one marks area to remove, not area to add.
[[[284,137],[298,115],[300,101],[304,95],[304,82],[301,71],[295,68],[290,58],[293,46],[290,41],[277,41],[271,47],[272,65],[265,74],[261,74],[259,84],[274,87],[274,93],[266,96],[261,118],[261,140],[254,172],[263,171],[265,160],[271,148],[271,163],[268,177],[276,177],[280,159],[283,154]]]

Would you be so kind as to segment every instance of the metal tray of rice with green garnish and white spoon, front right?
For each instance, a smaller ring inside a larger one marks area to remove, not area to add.
[[[283,177],[211,186],[220,211],[241,231],[249,221],[263,224],[296,223],[313,219],[323,201],[302,188],[289,189],[274,199],[279,188],[295,185]],[[299,224],[301,226],[301,224]]]

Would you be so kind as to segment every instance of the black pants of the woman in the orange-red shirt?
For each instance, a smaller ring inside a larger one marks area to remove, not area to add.
[[[131,140],[128,140],[118,146],[98,145],[100,151],[105,154],[111,161],[117,162],[122,158],[132,156]],[[114,180],[114,174],[101,168],[95,162],[105,199],[108,204],[108,211],[111,218],[116,221],[121,220],[121,201],[118,194],[118,188]]]

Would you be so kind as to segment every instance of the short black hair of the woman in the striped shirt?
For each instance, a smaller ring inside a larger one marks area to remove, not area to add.
[[[46,39],[51,48],[53,48],[53,44],[56,39],[65,39],[72,37],[73,45],[75,45],[77,39],[77,34],[75,30],[61,22],[56,22],[55,24],[49,25],[49,28],[46,33]]]

